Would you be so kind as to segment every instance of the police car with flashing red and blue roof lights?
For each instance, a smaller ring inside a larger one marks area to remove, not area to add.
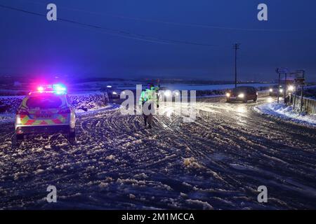
[[[22,99],[15,116],[18,140],[25,134],[67,133],[75,138],[76,116],[64,85],[41,85]]]

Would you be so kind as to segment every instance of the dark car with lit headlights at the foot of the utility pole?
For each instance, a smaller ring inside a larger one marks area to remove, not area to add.
[[[226,93],[227,102],[248,102],[249,100],[257,101],[258,92],[255,87],[239,86]]]

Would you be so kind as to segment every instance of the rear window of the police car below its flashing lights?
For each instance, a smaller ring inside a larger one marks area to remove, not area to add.
[[[62,106],[62,100],[58,96],[33,96],[26,102],[29,108],[53,109]]]

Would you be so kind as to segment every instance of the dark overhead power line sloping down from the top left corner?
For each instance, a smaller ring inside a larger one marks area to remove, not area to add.
[[[30,15],[37,15],[37,16],[41,16],[41,17],[45,17],[46,15],[41,14],[41,13],[36,13],[36,12],[32,12],[29,10],[24,10],[24,9],[20,9],[20,8],[14,8],[11,6],[4,6],[0,4],[1,8],[6,8],[6,9],[10,9],[10,10],[15,10],[15,11],[19,11],[22,13],[27,13]],[[62,21],[62,22],[69,22],[72,24],[76,24],[76,25],[81,25],[84,27],[89,27],[89,28],[93,28],[93,29],[100,29],[102,30],[105,34],[110,34],[113,36],[121,36],[124,38],[131,38],[131,39],[136,39],[138,41],[147,41],[147,42],[152,42],[152,43],[164,43],[164,44],[186,44],[186,45],[200,45],[200,46],[207,46],[207,47],[217,47],[217,45],[211,45],[211,44],[206,44],[206,43],[197,43],[197,42],[192,42],[192,41],[179,41],[179,40],[174,40],[174,39],[169,39],[169,38],[159,38],[159,37],[155,37],[155,36],[148,36],[148,35],[144,35],[144,34],[136,34],[136,33],[132,33],[130,31],[124,31],[121,29],[111,29],[111,28],[107,28],[107,27],[100,27],[97,25],[90,25],[88,23],[84,23],[84,22],[77,22],[75,20],[68,20],[68,19],[64,19],[64,18],[58,18],[58,21]]]

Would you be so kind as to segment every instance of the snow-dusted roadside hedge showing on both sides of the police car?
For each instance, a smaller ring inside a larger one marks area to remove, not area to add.
[[[22,102],[23,96],[0,97],[0,113],[15,113]],[[107,105],[109,97],[105,92],[70,94],[75,109],[99,109]]]

